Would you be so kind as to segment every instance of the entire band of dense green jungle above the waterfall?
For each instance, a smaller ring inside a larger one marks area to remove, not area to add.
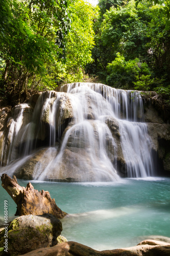
[[[75,81],[154,90],[169,104],[169,0],[0,2],[0,96],[7,104]]]

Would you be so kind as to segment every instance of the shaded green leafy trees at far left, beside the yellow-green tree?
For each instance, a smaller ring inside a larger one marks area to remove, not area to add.
[[[69,24],[62,0],[2,0],[0,51],[5,66],[1,65],[1,88],[20,97],[42,78],[53,79],[48,67],[63,53]]]

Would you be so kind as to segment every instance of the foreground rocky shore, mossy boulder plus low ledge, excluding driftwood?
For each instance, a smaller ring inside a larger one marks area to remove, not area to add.
[[[61,221],[51,214],[21,216],[8,225],[8,250],[0,251],[0,256],[170,255],[170,243],[159,241],[159,238],[143,240],[133,247],[103,251],[94,250],[77,242],[68,242],[61,236]],[[4,232],[5,228],[0,228],[1,248],[4,243]]]

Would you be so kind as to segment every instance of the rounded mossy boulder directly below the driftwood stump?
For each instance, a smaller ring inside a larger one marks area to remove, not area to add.
[[[8,226],[8,253],[4,255],[19,255],[54,246],[61,231],[62,223],[51,214],[18,217]],[[1,230],[0,247],[4,247],[4,233],[5,229]]]

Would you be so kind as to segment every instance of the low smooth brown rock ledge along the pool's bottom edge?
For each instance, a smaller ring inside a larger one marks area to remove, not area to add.
[[[24,254],[25,256],[167,256],[170,253],[170,244],[159,241],[143,241],[140,244],[123,249],[97,251],[88,246],[76,243],[65,242],[52,248],[37,249]],[[23,255],[19,255],[23,256]]]

